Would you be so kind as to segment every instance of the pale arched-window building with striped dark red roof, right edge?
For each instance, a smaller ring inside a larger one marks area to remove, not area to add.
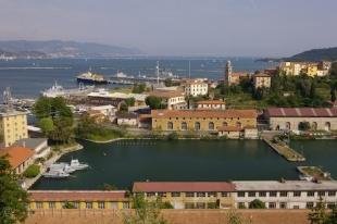
[[[336,108],[270,108],[265,120],[273,130],[299,130],[301,123],[309,123],[312,130],[336,130]]]

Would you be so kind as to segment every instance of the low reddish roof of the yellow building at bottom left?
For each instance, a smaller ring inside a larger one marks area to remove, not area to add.
[[[112,201],[126,200],[125,190],[29,190],[33,201]]]

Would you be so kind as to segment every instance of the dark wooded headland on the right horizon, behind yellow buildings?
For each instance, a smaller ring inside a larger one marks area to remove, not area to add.
[[[337,61],[337,47],[308,50],[288,58],[263,58],[258,61]]]

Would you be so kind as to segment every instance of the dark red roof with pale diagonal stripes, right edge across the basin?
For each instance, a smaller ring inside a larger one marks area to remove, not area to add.
[[[269,108],[264,113],[274,117],[337,117],[336,108]]]

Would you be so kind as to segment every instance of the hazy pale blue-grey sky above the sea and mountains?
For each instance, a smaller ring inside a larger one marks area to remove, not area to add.
[[[151,55],[288,57],[337,47],[337,0],[0,0],[1,40],[76,40]]]

